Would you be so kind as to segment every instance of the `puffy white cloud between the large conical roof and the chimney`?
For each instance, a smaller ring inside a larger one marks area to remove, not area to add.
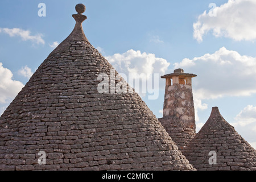
[[[149,100],[156,100],[159,97],[159,88],[165,86],[159,85],[160,76],[164,75],[170,65],[167,60],[155,57],[152,53],[141,53],[133,49],[106,56],[106,59],[141,97],[148,93]],[[150,95],[153,93],[153,96]]]

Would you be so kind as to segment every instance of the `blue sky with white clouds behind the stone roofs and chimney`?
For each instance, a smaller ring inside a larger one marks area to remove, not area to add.
[[[255,0],[1,0],[0,114],[71,33],[77,3],[86,5],[88,40],[119,73],[196,74],[197,131],[218,106],[256,148]],[[160,118],[165,81],[158,80],[159,97],[142,98]]]

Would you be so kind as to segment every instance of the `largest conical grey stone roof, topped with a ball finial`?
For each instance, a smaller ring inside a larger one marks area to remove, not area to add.
[[[84,35],[85,7],[76,9],[71,35],[0,118],[0,169],[193,169],[137,93],[98,92],[98,76],[117,72]]]

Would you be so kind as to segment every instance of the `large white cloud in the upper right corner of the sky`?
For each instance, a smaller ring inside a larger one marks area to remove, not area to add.
[[[233,40],[256,39],[256,1],[255,0],[229,0],[224,5],[216,7],[216,17],[204,11],[193,24],[193,37],[203,41],[203,36],[212,31],[216,37],[224,36]],[[210,13],[211,14],[211,13]]]

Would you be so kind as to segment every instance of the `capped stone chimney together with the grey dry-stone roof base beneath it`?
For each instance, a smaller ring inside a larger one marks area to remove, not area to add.
[[[183,69],[162,76],[166,79],[166,90],[163,118],[158,120],[181,152],[196,135],[192,77],[196,75],[184,73]]]

